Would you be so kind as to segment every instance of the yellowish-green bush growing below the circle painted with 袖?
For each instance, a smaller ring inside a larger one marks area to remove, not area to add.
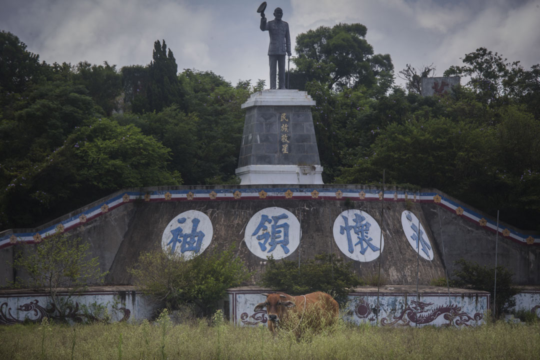
[[[246,282],[251,273],[231,250],[185,260],[163,250],[143,253],[129,270],[143,294],[176,310],[194,303],[204,315],[214,312],[226,290]]]

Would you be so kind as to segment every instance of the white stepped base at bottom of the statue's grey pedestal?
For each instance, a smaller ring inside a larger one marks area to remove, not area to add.
[[[235,173],[240,185],[323,184],[320,165],[248,165],[239,167]]]

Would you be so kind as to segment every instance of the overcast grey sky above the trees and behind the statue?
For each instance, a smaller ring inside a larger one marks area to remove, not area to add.
[[[147,65],[165,39],[178,71],[211,70],[235,85],[266,79],[268,33],[259,0],[0,0],[0,30],[17,35],[40,60]],[[484,46],[526,69],[540,63],[540,0],[276,0],[293,56],[296,35],[321,25],[361,23],[375,53],[389,53],[395,74],[434,64],[442,76]],[[397,78],[396,83],[402,83]]]

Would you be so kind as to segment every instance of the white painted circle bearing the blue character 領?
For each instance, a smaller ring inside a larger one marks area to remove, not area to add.
[[[280,207],[267,207],[247,222],[244,241],[247,248],[261,259],[283,259],[300,244],[300,222],[293,213]]]

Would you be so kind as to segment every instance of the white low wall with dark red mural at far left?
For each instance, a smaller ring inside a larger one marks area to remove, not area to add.
[[[73,296],[71,305],[63,314],[50,303],[45,293],[0,293],[0,324],[40,322],[44,317],[56,321],[93,322],[106,314],[111,322],[137,321],[151,318],[155,307],[135,290],[86,291]]]

